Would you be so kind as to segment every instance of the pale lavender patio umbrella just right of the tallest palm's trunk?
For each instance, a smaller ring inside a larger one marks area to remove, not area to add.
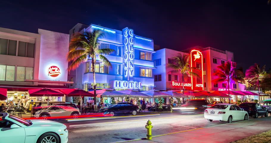
[[[88,91],[90,93],[92,93],[92,91]],[[93,91],[94,92],[94,91]],[[128,94],[124,94],[118,91],[115,91],[114,89],[111,88],[104,88],[102,90],[97,90],[96,91],[97,97],[127,97]]]

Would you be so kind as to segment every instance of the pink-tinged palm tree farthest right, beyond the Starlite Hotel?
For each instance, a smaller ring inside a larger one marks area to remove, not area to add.
[[[257,63],[255,63],[254,65],[250,66],[246,70],[246,73],[245,73],[247,79],[252,79],[251,80],[252,82],[257,81],[259,96],[260,96],[260,82],[259,82],[259,77],[264,76],[264,74],[266,73],[264,71],[264,69],[265,69],[265,65],[262,68],[260,68],[260,66]]]

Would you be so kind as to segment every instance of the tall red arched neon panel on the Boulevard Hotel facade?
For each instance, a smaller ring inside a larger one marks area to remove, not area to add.
[[[191,83],[192,83],[192,90],[193,88],[196,88],[194,90],[201,90],[200,88],[202,88],[202,90],[204,90],[203,87],[203,57],[202,57],[202,53],[198,50],[191,50],[190,52],[190,57],[191,57],[191,67],[196,67],[197,63],[201,64],[201,76],[202,76],[202,84],[197,83],[197,79],[194,78],[193,76],[191,76]],[[195,72],[193,69],[191,69],[191,71]],[[195,82],[195,86],[193,84],[193,80]]]

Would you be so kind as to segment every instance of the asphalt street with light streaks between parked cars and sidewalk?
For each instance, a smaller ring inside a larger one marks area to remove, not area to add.
[[[151,114],[155,114],[152,112]],[[260,117],[259,117],[260,118]],[[253,119],[253,117],[249,117]],[[152,122],[152,135],[190,130],[225,124],[208,122],[203,113],[163,113],[160,115],[127,116],[91,119],[89,121],[63,122],[69,131],[68,143],[99,142],[109,143],[144,138],[147,134],[146,122]]]

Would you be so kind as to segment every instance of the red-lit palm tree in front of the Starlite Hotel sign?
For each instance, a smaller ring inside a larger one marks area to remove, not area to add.
[[[227,61],[224,64],[218,65],[216,72],[213,73],[214,76],[217,76],[214,80],[214,83],[226,82],[228,85],[228,95],[230,96],[230,80],[244,82],[244,79],[235,77],[234,68],[231,61]],[[230,99],[229,99],[230,103]]]

